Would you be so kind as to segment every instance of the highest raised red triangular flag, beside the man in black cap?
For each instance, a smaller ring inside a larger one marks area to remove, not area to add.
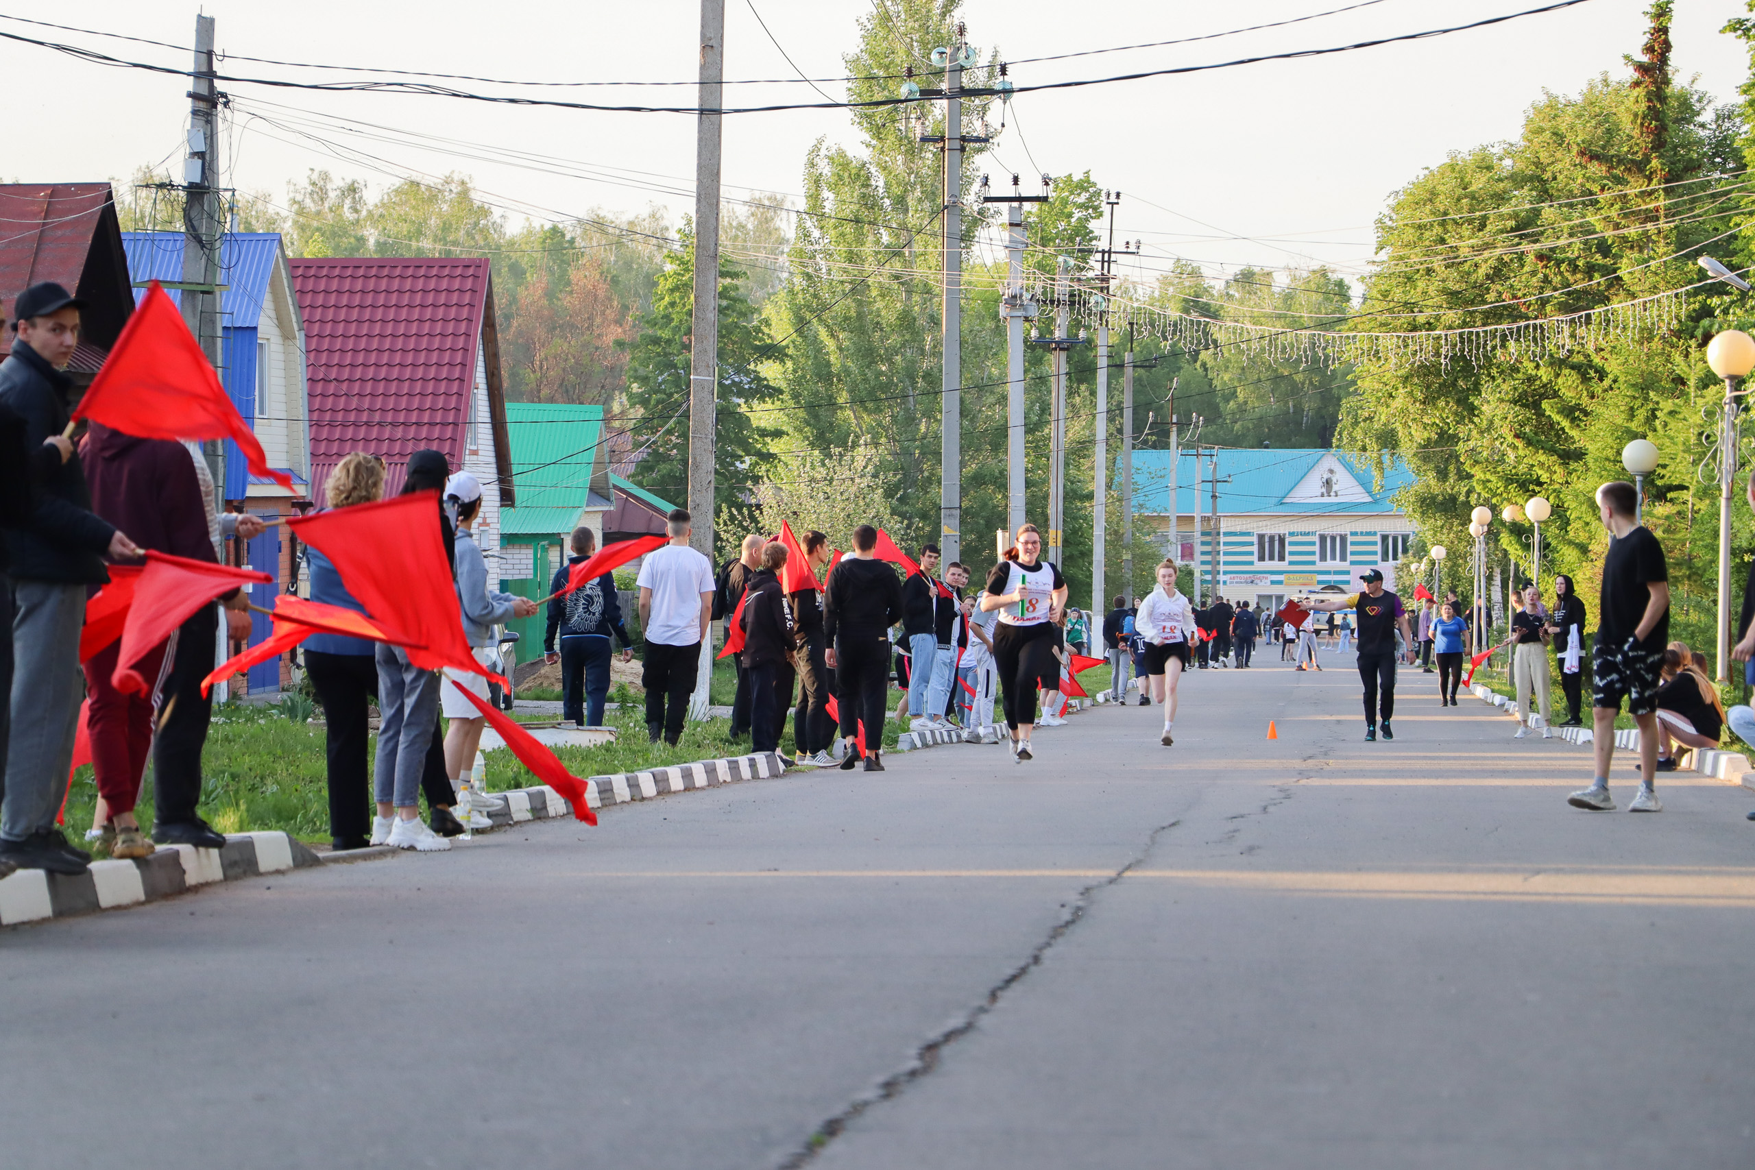
[[[158,281],[147,286],[74,417],[137,439],[230,439],[244,453],[251,475],[293,486],[291,475],[269,467],[256,433],[232,405],[212,363]]]

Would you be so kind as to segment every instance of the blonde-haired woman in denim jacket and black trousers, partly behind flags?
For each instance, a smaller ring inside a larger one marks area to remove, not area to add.
[[[323,481],[328,509],[370,503],[384,493],[384,461],[355,451]],[[305,546],[311,600],[363,614],[323,553]],[[330,845],[337,853],[370,844],[372,795],[367,782],[370,738],[369,698],[377,695],[374,644],[340,633],[312,633],[304,644],[305,674],[323,705],[323,747],[328,758]]]

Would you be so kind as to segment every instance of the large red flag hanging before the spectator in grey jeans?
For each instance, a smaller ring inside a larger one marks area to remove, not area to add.
[[[451,667],[505,686],[505,679],[476,661],[463,637],[463,610],[439,535],[437,491],[290,517],[286,526],[330,558],[384,640],[407,647],[416,667]]]

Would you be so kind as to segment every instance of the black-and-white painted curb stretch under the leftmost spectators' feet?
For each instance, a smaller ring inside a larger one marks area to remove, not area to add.
[[[93,861],[79,875],[18,870],[0,881],[0,926],[158,902],[209,882],[323,865],[286,833],[232,833],[223,849],[160,845],[149,858]]]

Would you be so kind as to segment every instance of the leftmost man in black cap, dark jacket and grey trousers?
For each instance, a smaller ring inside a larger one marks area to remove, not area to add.
[[[79,344],[79,300],[60,284],[33,284],[12,305],[12,332],[0,407],[25,419],[25,446],[35,449],[67,428],[72,382],[61,370]],[[79,630],[90,586],[109,581],[102,558],[135,560],[140,549],[91,512],[79,456],[68,449],[63,458],[35,486],[25,524],[5,531],[14,677],[0,858],[82,874],[91,854],[54,828],[84,688]]]

